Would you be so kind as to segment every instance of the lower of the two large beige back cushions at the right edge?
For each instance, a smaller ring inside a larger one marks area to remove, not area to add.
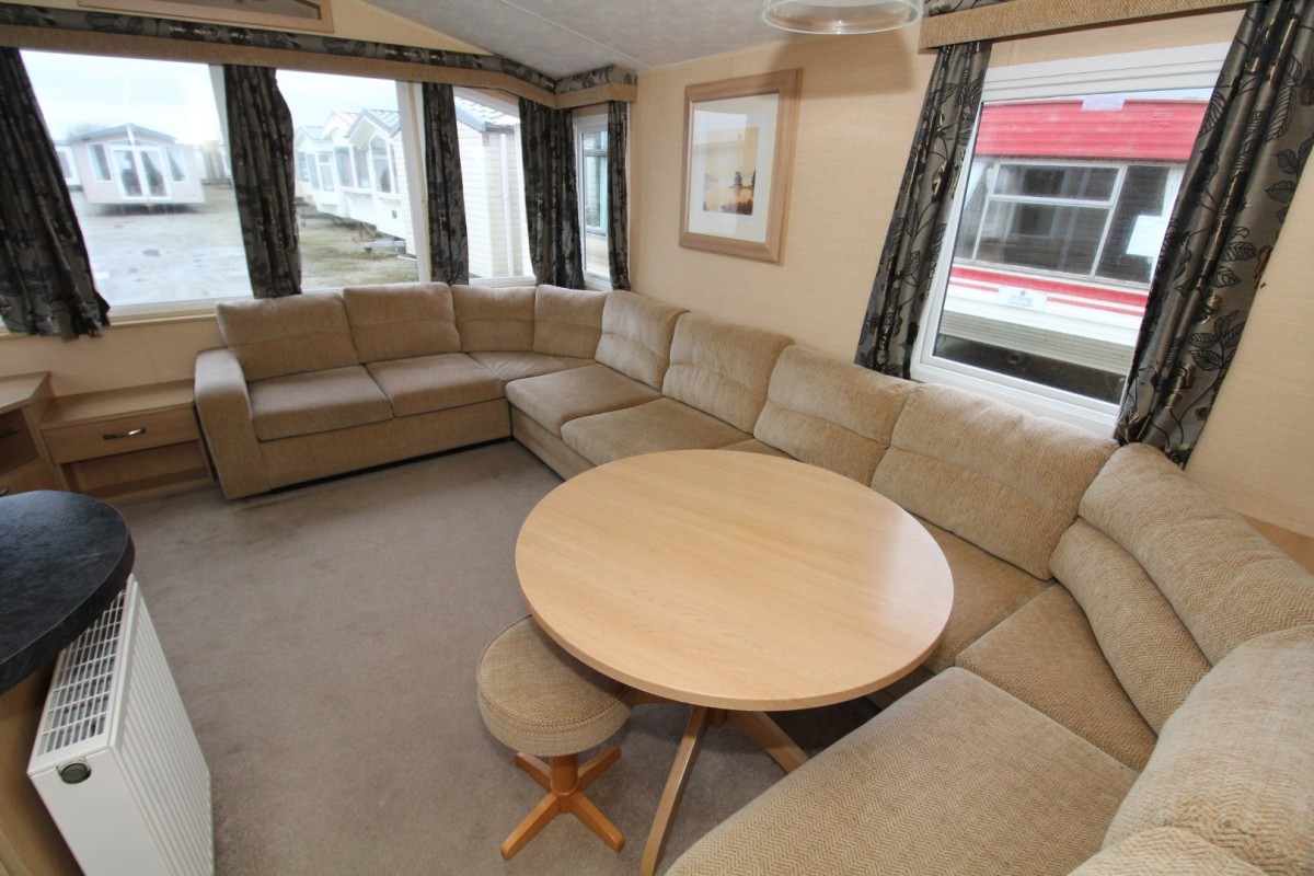
[[[1238,645],[1163,728],[1105,846],[1179,827],[1267,873],[1314,867],[1314,626]]]

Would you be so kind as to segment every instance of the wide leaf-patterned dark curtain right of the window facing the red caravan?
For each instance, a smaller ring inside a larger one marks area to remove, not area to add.
[[[1185,465],[1314,148],[1314,0],[1252,3],[1218,75],[1150,286],[1117,437]]]

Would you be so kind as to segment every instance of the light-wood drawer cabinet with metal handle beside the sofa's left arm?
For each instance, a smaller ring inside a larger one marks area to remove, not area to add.
[[[189,380],[57,398],[41,432],[68,489],[101,499],[160,495],[213,479]]]

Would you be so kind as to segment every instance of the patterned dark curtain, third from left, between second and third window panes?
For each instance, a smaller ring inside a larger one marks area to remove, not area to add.
[[[465,186],[451,85],[424,83],[424,175],[428,180],[428,264],[434,280],[470,281]]]

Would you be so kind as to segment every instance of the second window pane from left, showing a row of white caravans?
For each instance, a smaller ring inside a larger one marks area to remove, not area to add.
[[[422,176],[403,172],[418,131],[398,83],[280,70],[279,91],[315,168],[297,186],[302,289],[419,280]]]

